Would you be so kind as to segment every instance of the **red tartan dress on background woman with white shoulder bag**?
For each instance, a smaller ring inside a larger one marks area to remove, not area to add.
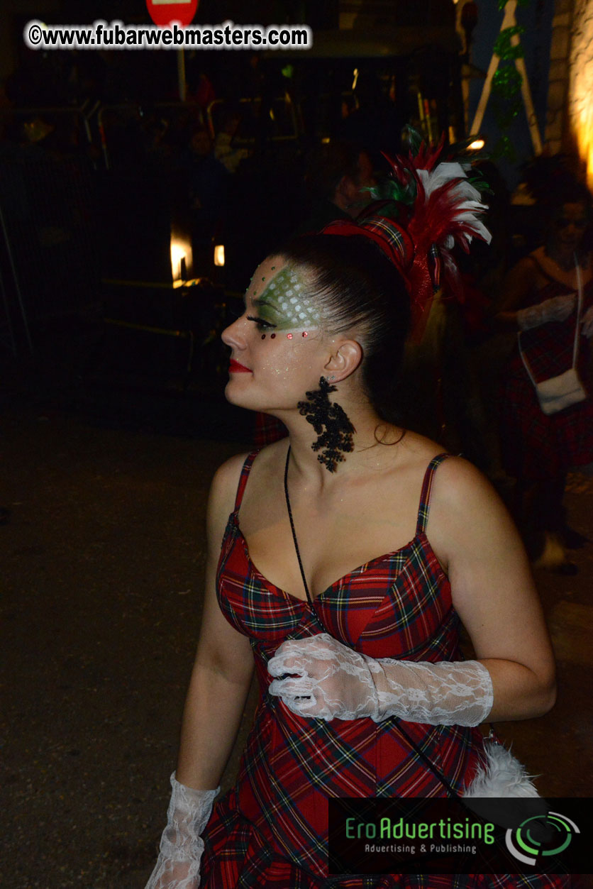
[[[549,277],[540,263],[530,257],[542,275],[549,278],[519,308],[527,308],[550,297],[574,292]],[[593,305],[593,280],[583,289],[581,318]],[[576,308],[565,321],[549,321],[521,333],[521,349],[537,382],[564,373],[573,366]],[[584,387],[593,393],[589,340],[581,336],[577,369]],[[593,461],[593,398],[549,414],[541,410],[535,388],[515,347],[501,380],[501,453],[509,475],[538,481],[562,476],[572,466]]]

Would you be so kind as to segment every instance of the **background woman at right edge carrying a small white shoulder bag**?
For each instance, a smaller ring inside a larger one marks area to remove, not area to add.
[[[504,324],[520,331],[501,386],[501,450],[505,469],[517,478],[517,521],[533,557],[539,556],[542,565],[555,565],[563,573],[576,571],[566,560],[564,548],[585,542],[566,525],[562,501],[568,469],[593,462],[593,400],[587,397],[546,414],[533,380],[549,380],[569,370],[576,338],[577,370],[585,388],[593,391],[589,349],[593,267],[589,249],[583,246],[590,203],[587,189],[576,184],[565,186],[556,196],[548,207],[547,244],[511,269],[498,315]],[[580,312],[577,263],[582,281]]]

